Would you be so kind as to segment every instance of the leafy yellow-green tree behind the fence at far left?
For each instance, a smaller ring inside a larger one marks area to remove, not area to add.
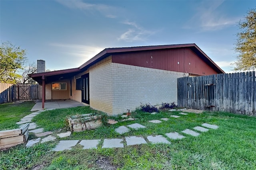
[[[21,78],[17,73],[26,61],[26,50],[15,47],[10,42],[0,45],[0,82],[16,83]]]

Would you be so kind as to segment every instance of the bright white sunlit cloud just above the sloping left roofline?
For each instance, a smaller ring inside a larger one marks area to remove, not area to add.
[[[98,53],[103,50],[101,47],[97,46],[88,46],[88,45],[77,45],[77,44],[62,44],[62,43],[50,43],[51,46],[60,47],[62,48],[62,53],[69,55],[70,57],[78,57],[78,61],[80,64],[81,62],[86,62]],[[82,61],[81,61],[82,60]]]

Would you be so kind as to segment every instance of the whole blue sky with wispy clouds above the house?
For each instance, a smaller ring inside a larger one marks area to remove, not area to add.
[[[50,70],[79,67],[109,47],[196,43],[232,72],[237,24],[255,7],[255,0],[0,0],[0,41]]]

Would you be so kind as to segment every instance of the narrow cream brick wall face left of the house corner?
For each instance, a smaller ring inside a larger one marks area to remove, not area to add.
[[[111,56],[90,66],[90,107],[112,114],[113,78]]]

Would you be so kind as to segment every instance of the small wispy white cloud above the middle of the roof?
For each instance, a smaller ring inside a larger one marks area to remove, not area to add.
[[[138,26],[135,22],[124,21],[122,23],[125,25],[130,25],[131,27],[120,35],[118,40],[127,42],[145,41],[148,36],[154,34],[154,31],[146,30],[143,27]]]

